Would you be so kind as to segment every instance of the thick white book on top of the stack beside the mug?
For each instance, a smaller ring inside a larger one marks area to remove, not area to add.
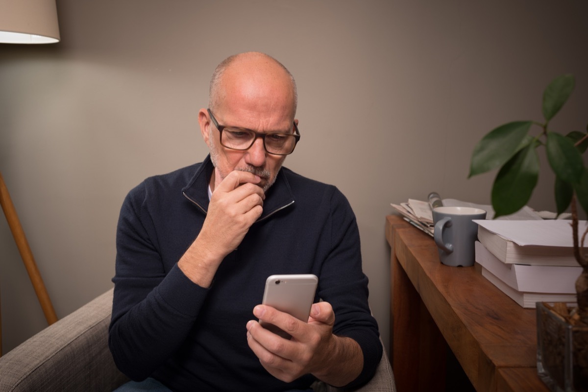
[[[569,220],[475,220],[478,239],[507,264],[571,266],[573,254]],[[580,231],[586,221],[580,221]]]

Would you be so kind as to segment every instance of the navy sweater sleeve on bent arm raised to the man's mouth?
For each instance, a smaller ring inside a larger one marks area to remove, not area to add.
[[[148,377],[181,347],[208,293],[177,264],[165,271],[145,193],[139,185],[121,209],[108,337],[116,366],[132,380]]]

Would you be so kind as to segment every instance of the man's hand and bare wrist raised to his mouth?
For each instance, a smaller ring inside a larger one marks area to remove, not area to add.
[[[209,287],[216,269],[263,212],[260,177],[233,170],[215,187],[202,230],[178,262],[192,282]]]

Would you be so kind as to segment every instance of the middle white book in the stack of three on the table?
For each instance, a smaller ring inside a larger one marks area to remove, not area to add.
[[[476,262],[519,292],[575,294],[582,267],[506,264],[476,241]]]

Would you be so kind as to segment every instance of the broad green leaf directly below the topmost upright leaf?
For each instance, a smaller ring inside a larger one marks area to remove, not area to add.
[[[566,136],[556,132],[547,132],[545,145],[547,160],[556,176],[565,182],[576,183],[584,171],[584,162],[580,151]]]

